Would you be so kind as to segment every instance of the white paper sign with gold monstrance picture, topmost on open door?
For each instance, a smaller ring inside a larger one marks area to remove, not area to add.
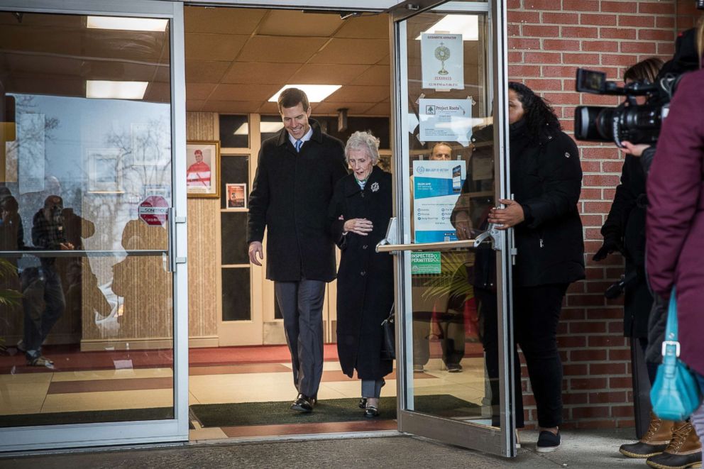
[[[420,43],[423,87],[464,89],[462,35],[423,33]]]

